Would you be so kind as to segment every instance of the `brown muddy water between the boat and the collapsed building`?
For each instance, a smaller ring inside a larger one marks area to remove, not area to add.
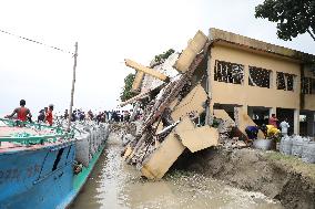
[[[110,137],[72,209],[282,208],[262,194],[235,189],[200,174],[175,170],[160,181],[145,180],[121,160],[120,151],[119,139]]]

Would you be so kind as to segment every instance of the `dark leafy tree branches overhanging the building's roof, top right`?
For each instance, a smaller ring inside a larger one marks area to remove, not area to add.
[[[265,0],[255,8],[255,18],[277,22],[282,40],[307,32],[315,41],[315,0]]]

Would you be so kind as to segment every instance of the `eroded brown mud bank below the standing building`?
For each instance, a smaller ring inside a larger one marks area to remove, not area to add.
[[[209,148],[185,153],[173,168],[193,170],[278,199],[285,208],[315,209],[315,165],[275,151]]]

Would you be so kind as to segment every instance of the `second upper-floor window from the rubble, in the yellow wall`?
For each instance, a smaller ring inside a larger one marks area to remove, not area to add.
[[[248,85],[258,87],[271,87],[271,70],[262,67],[250,66]]]

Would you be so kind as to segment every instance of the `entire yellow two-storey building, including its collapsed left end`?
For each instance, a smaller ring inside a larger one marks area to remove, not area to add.
[[[139,94],[121,106],[133,103],[133,113],[144,111],[125,143],[124,159],[159,179],[184,150],[245,137],[246,126],[262,125],[273,113],[288,118],[294,134],[314,136],[314,55],[217,29],[207,36],[199,31],[183,52],[150,66],[125,60],[136,70],[132,88]]]

